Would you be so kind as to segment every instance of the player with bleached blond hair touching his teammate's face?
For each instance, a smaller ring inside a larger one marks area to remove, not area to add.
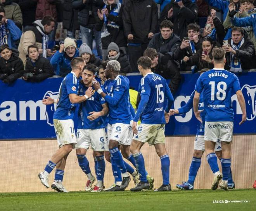
[[[129,129],[131,128],[131,113],[129,101],[129,80],[123,75],[119,75],[120,63],[111,60],[107,63],[105,74],[107,80],[104,84],[104,91],[100,84],[94,83],[95,90],[107,101],[109,105],[109,124],[107,127],[107,136],[109,139],[109,152],[111,158],[121,170],[123,175],[120,190],[124,190],[130,183],[130,176],[127,173],[125,162],[121,152],[118,150],[118,144],[124,148],[129,148],[128,139]]]

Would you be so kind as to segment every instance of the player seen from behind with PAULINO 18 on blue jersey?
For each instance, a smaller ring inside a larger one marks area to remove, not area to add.
[[[231,166],[231,144],[233,137],[234,112],[232,109],[231,97],[235,93],[242,110],[242,120],[239,125],[246,121],[246,105],[237,76],[224,69],[226,63],[225,50],[223,48],[213,48],[214,69],[203,73],[197,80],[195,86],[195,96],[193,100],[195,117],[202,122],[198,108],[200,94],[203,92],[203,102],[205,111],[204,141],[208,163],[214,173],[212,190],[220,188],[228,190],[228,177]],[[220,139],[222,158],[220,173],[217,156],[214,153],[216,142]]]

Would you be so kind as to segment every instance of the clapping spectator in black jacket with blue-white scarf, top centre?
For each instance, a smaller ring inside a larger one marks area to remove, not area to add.
[[[106,5],[98,10],[99,19],[95,29],[101,31],[102,58],[107,57],[107,46],[115,42],[126,54],[126,39],[123,31],[123,5],[118,0],[104,0]]]

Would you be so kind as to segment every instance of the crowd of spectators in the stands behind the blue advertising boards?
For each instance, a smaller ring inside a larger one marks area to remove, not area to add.
[[[214,46],[225,48],[225,69],[242,72],[256,67],[254,4],[253,0],[0,0],[0,79],[10,84],[19,77],[26,81],[65,77],[74,57],[98,69],[102,61],[117,60],[125,75],[138,72],[137,60],[146,55],[152,71],[170,79],[175,93],[180,71],[213,68]],[[58,25],[67,30],[63,40]]]

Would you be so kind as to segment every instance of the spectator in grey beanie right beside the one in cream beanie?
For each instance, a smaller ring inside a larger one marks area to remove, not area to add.
[[[95,57],[94,53],[92,53],[91,48],[83,43],[79,48],[79,56],[85,60],[86,64],[93,64],[99,67],[102,64],[102,60],[100,58]]]

